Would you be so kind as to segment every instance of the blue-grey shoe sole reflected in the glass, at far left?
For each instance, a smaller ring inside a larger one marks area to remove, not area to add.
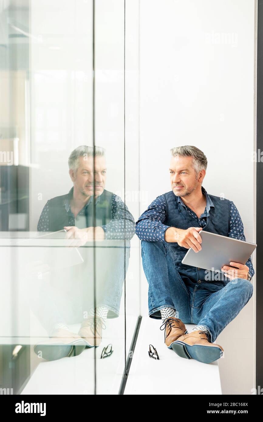
[[[34,352],[45,360],[59,360],[62,357],[73,357],[81,354],[85,349],[85,343],[82,339],[77,339],[71,344],[65,343],[50,343],[50,344],[36,344]]]

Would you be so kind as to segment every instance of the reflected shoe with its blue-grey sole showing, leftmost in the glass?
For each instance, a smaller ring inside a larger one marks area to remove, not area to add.
[[[83,352],[86,344],[82,338],[69,330],[55,330],[46,343],[36,344],[34,352],[46,360],[77,356]]]

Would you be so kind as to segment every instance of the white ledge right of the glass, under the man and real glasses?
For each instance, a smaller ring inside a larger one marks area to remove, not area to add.
[[[207,364],[179,357],[165,345],[161,325],[161,319],[142,318],[124,394],[221,395],[218,360]],[[188,333],[195,327],[185,326]],[[149,357],[149,344],[160,360]]]

